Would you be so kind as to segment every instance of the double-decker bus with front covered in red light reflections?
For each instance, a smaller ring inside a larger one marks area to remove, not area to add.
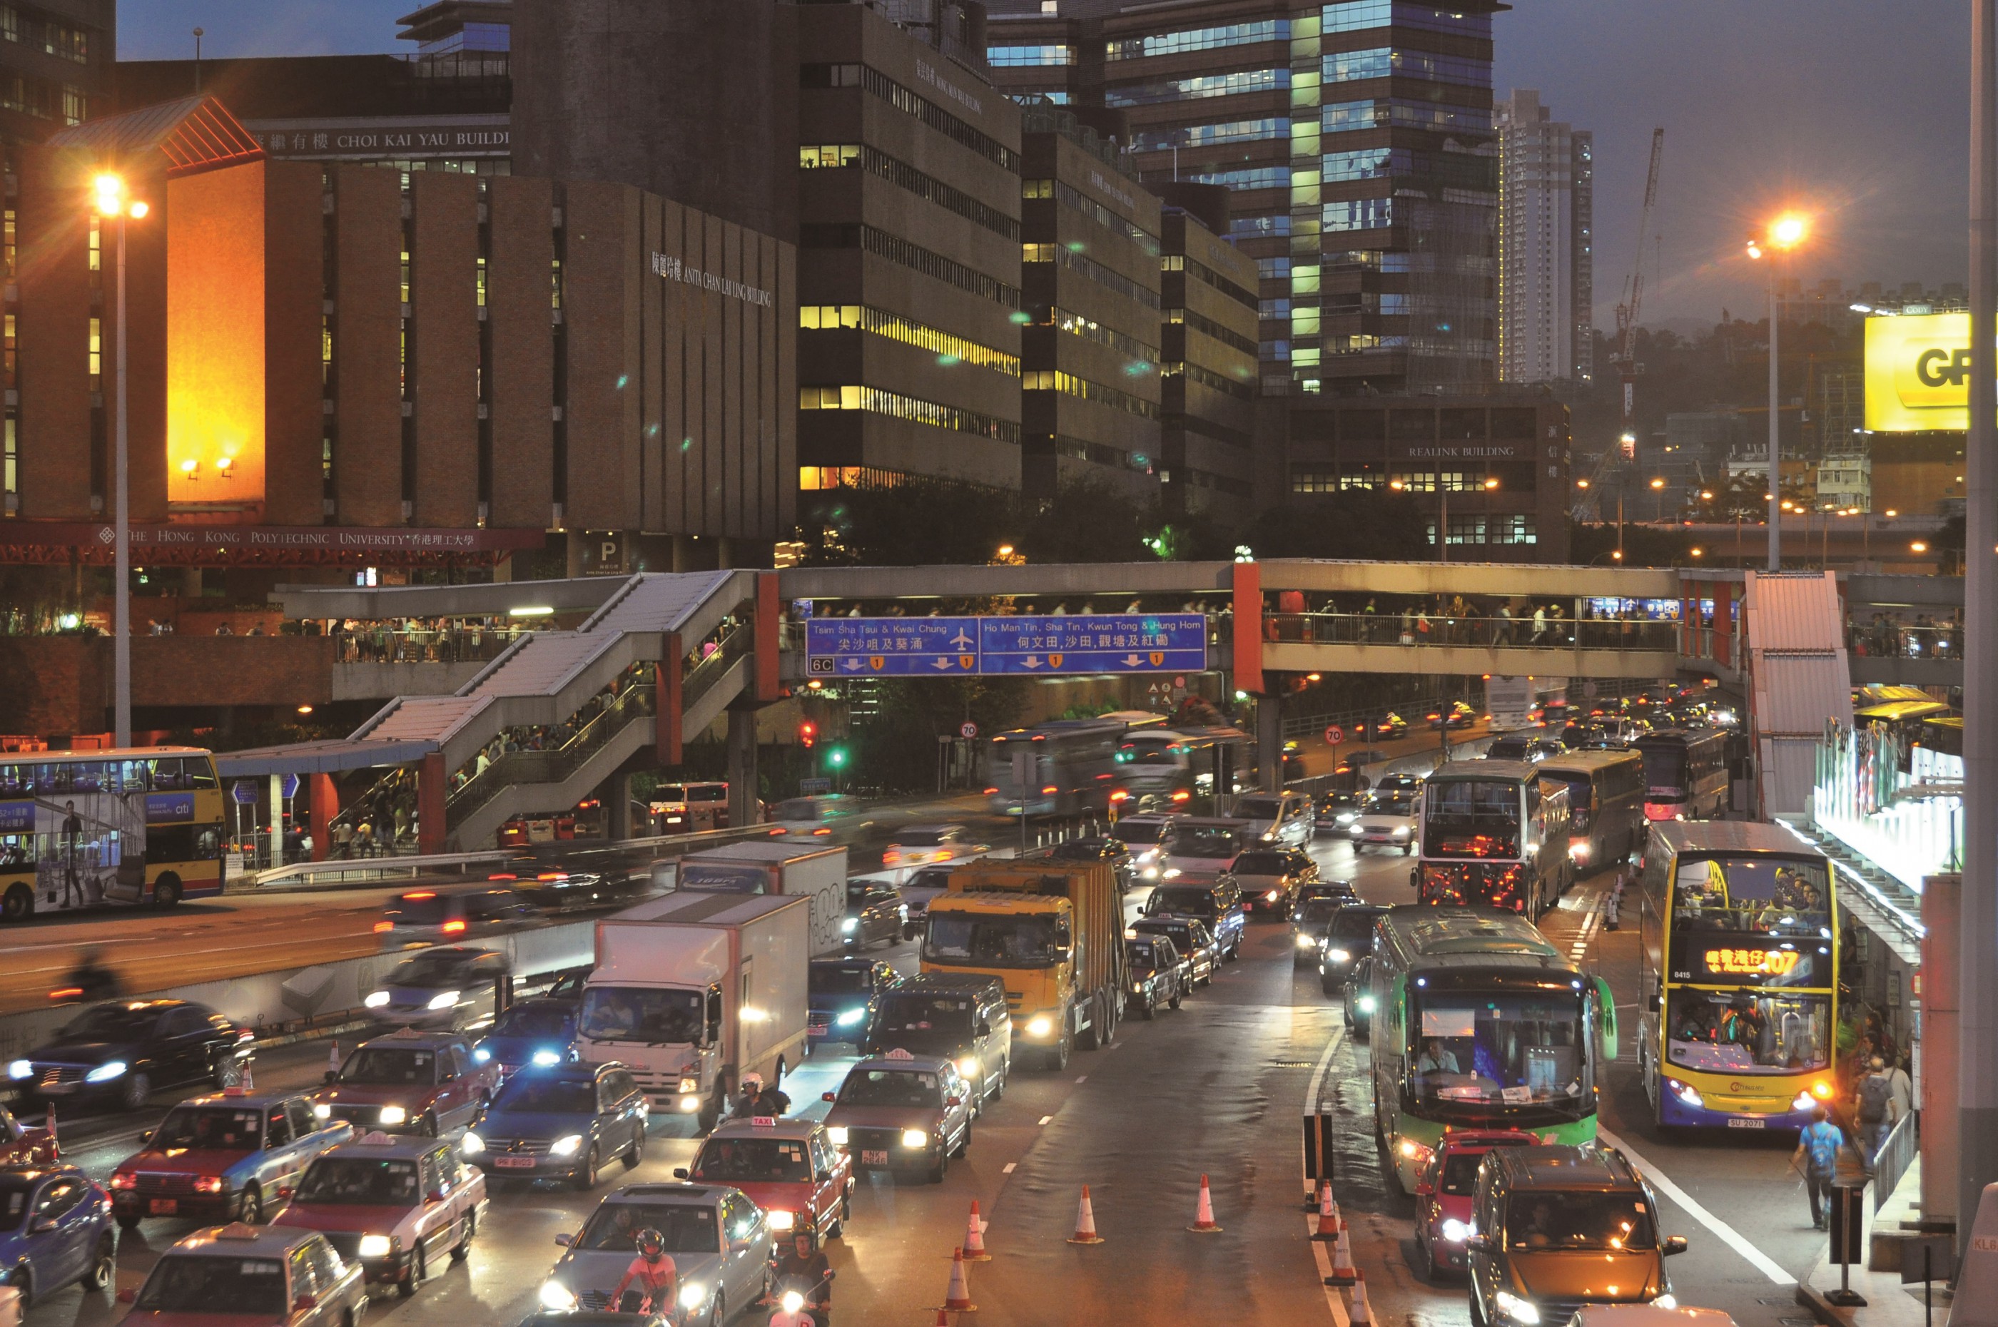
[[[1423,783],[1415,893],[1423,903],[1538,917],[1568,887],[1568,799],[1540,765],[1453,761]]]

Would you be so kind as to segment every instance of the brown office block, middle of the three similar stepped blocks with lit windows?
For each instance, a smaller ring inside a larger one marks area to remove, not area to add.
[[[1053,104],[1021,136],[1021,486],[1159,496],[1159,200]]]

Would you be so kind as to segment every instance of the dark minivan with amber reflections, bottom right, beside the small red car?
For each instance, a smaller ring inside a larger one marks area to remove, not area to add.
[[[1622,1153],[1602,1147],[1502,1147],[1485,1155],[1473,1199],[1471,1321],[1566,1323],[1592,1303],[1676,1307],[1658,1235],[1658,1199]]]

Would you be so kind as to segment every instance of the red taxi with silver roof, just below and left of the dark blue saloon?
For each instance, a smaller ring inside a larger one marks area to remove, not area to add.
[[[314,1161],[272,1225],[320,1231],[370,1285],[408,1299],[472,1251],[484,1215],[486,1177],[450,1143],[370,1133]]]

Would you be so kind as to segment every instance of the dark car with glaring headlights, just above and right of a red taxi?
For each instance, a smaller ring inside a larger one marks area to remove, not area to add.
[[[939,1185],[971,1147],[971,1085],[939,1055],[871,1055],[825,1099],[825,1135],[863,1171],[927,1171]]]

